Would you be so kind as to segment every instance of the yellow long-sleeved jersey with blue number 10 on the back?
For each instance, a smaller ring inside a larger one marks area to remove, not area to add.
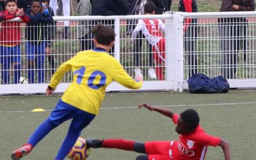
[[[141,81],[132,79],[119,61],[103,49],[78,52],[76,56],[61,64],[52,76],[49,86],[56,88],[65,72],[71,69],[74,78],[61,100],[94,115],[99,113],[106,88],[112,81],[131,89],[139,89],[142,86]]]

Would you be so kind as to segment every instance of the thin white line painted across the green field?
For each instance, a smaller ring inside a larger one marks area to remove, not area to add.
[[[179,104],[179,105],[163,105],[157,107],[186,107],[186,106],[232,106],[236,107],[237,104],[256,104],[256,102],[236,102],[236,103],[218,103],[218,104]],[[138,108],[138,107],[109,107],[109,108],[100,108],[100,109],[129,109],[129,108]],[[52,110],[45,110],[52,111]],[[31,111],[0,111],[0,113],[26,113]]]

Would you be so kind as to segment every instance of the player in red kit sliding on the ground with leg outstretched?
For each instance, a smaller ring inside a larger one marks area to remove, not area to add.
[[[86,140],[87,147],[117,148],[146,154],[136,157],[136,160],[201,160],[204,159],[208,146],[220,146],[225,160],[230,160],[230,145],[228,141],[205,133],[199,124],[198,113],[194,109],[186,109],[178,115],[168,109],[157,108],[149,104],[140,104],[138,107],[144,107],[172,118],[173,123],[177,125],[175,131],[179,134],[179,140],[140,143],[122,139],[88,139]]]

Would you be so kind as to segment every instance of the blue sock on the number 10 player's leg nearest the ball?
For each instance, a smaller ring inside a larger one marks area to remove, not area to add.
[[[67,134],[65,140],[63,141],[61,148],[60,148],[55,159],[65,159],[68,152],[71,150],[71,148],[76,143],[76,140],[80,134],[81,134],[81,131],[77,131],[77,129],[70,127],[68,129],[68,134]]]

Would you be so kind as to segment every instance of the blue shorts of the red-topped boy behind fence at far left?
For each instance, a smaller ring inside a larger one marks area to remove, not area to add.
[[[2,64],[20,63],[20,45],[3,46],[0,45],[0,61]]]

